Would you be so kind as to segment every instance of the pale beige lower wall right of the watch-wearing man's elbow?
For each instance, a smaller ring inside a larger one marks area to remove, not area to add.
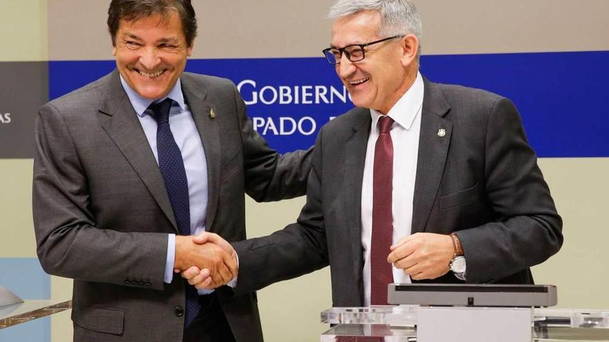
[[[563,217],[565,244],[534,267],[535,281],[558,285],[558,307],[609,310],[609,158],[552,158],[539,164]]]

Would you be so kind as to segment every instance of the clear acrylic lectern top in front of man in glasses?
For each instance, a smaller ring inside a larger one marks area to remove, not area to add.
[[[494,307],[460,307],[457,310],[496,310]],[[524,323],[530,331],[530,339],[525,341],[565,342],[565,341],[609,341],[609,310],[570,310],[547,308],[502,308],[505,310],[528,310],[530,319]],[[451,310],[451,307],[431,307],[419,305],[376,306],[376,307],[334,307],[321,314],[322,323],[334,325],[321,336],[321,342],[334,341],[384,341],[384,342],[421,342],[421,316],[437,314],[434,310]],[[465,312],[466,314],[468,312]],[[460,315],[463,312],[459,313]],[[437,315],[436,315],[437,316]],[[479,316],[479,317],[482,317]],[[491,316],[490,314],[487,316]],[[435,330],[446,330],[446,322],[438,321]],[[498,322],[474,321],[474,330],[500,330]],[[511,327],[510,324],[503,326]],[[516,329],[516,325],[513,325]],[[418,331],[417,331],[418,330]],[[449,331],[451,339],[434,342],[460,341],[464,331]],[[429,340],[427,340],[429,341]],[[493,337],[480,336],[480,339],[466,341],[496,341]],[[512,342],[524,342],[521,340]]]

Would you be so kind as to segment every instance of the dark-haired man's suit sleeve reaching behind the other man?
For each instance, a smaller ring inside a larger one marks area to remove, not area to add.
[[[264,137],[253,129],[237,88],[233,87],[233,91],[242,131],[246,193],[257,202],[305,195],[313,147],[283,155],[271,149]]]

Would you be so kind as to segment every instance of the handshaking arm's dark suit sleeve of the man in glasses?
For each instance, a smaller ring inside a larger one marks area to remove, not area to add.
[[[311,157],[307,202],[297,222],[269,236],[233,244],[239,255],[237,294],[255,291],[329,265],[322,210],[322,131]]]

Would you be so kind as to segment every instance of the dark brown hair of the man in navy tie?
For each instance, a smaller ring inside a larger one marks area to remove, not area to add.
[[[167,19],[175,10],[181,21],[182,30],[188,47],[197,37],[197,18],[190,0],[112,0],[108,8],[108,30],[112,37],[112,46],[116,44],[116,32],[120,20],[136,21],[152,15],[161,15]]]

